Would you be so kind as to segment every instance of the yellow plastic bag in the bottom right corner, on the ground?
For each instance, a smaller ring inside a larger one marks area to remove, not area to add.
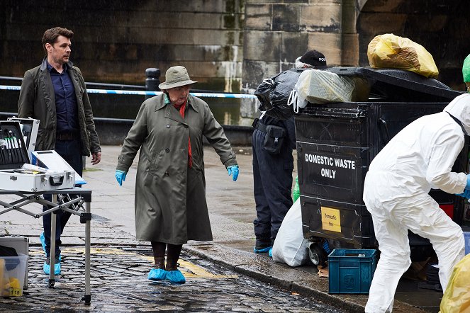
[[[470,312],[470,254],[454,267],[441,300],[440,313]]]

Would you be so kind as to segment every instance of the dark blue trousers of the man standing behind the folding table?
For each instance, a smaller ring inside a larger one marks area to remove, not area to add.
[[[55,142],[55,152],[65,159],[72,168],[82,176],[83,172],[83,161],[82,161],[82,146],[79,140],[70,141],[57,141]],[[45,200],[52,200],[52,195],[44,195]],[[43,211],[47,210],[47,207],[43,207]],[[62,210],[55,211],[56,224],[55,224],[55,256],[60,255],[60,235],[64,231],[65,224],[69,220],[72,213],[64,212]],[[45,237],[45,251],[46,255],[50,254],[50,214],[43,216],[43,227]]]

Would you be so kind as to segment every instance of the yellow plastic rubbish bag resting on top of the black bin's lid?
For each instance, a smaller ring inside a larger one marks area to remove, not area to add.
[[[430,78],[439,74],[425,47],[393,34],[375,36],[367,47],[367,58],[372,68],[405,69]]]

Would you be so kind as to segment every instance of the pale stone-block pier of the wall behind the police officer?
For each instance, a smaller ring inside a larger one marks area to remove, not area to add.
[[[357,50],[342,52],[343,20],[351,18],[342,13],[348,7],[342,4],[352,2],[246,0],[242,91],[252,93],[263,79],[292,68],[308,50],[323,52],[328,65],[355,63]],[[345,36],[352,47],[356,39],[355,32]],[[244,124],[259,115],[256,103],[248,100],[242,101],[240,113]]]

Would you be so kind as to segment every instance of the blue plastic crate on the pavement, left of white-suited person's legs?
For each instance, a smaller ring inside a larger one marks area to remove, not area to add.
[[[328,256],[330,293],[369,294],[377,266],[374,249],[335,249]]]

